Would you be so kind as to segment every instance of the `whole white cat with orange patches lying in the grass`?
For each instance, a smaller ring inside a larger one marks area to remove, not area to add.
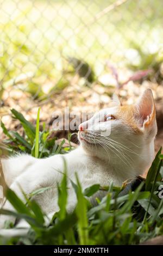
[[[135,105],[123,106],[117,96],[114,100],[116,106],[102,109],[79,125],[80,145],[70,153],[45,159],[27,154],[2,159],[5,182],[11,190],[26,202],[22,190],[28,195],[39,188],[51,186],[34,199],[46,215],[53,216],[59,210],[57,184],[63,175],[63,157],[68,176],[68,212],[77,202],[70,182],[76,182],[76,172],[83,189],[97,183],[121,186],[127,179],[143,174],[154,159],[157,132],[152,91],[146,89]],[[93,198],[91,200],[93,202]],[[8,201],[3,209],[14,211]],[[14,222],[15,218],[1,215],[0,228],[6,220]]]

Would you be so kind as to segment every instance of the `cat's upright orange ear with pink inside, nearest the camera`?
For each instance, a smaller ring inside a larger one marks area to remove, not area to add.
[[[141,127],[155,124],[155,103],[151,89],[146,89],[136,104],[136,119]]]

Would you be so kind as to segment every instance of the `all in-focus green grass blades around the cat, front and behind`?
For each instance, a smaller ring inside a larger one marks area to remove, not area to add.
[[[40,111],[40,110],[39,110]],[[24,135],[7,131],[4,124],[1,127],[8,136],[4,141],[6,149],[15,152],[22,150],[34,154],[37,143],[36,157],[50,154],[66,154],[67,148],[55,145],[55,138],[48,139],[49,131],[39,129],[39,111],[36,127],[30,124],[22,114],[12,109],[14,118],[20,120]],[[45,128],[45,127],[44,127]],[[39,142],[39,147],[38,147]],[[68,148],[68,150],[73,148]],[[162,184],[161,149],[149,169],[146,180],[122,187],[101,187],[95,184],[82,190],[78,176],[72,186],[77,196],[77,205],[70,214],[66,211],[67,204],[67,175],[66,163],[63,176],[58,185],[59,211],[54,214],[50,225],[45,224],[45,214],[32,197],[43,193],[51,187],[41,188],[26,195],[24,204],[10,189],[6,197],[16,209],[15,212],[0,210],[0,214],[14,215],[23,218],[30,225],[26,236],[0,237],[1,244],[15,245],[135,245],[149,238],[163,234],[163,198],[159,197],[159,186]],[[137,185],[135,185],[137,184]],[[130,189],[129,189],[130,188]],[[98,193],[104,197],[99,198]],[[96,205],[92,205],[89,198],[97,193]],[[6,227],[12,227],[6,223]]]

